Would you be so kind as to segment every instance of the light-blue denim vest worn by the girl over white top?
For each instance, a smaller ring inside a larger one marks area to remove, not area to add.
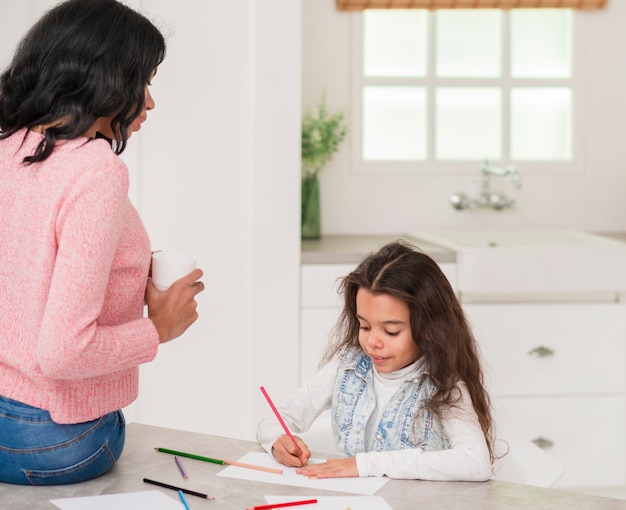
[[[365,451],[433,451],[450,447],[440,419],[429,409],[422,409],[437,391],[422,365],[418,374],[404,381],[389,399],[368,450],[365,426],[376,408],[372,361],[362,351],[344,356],[332,401],[332,425],[339,450],[354,456]]]

